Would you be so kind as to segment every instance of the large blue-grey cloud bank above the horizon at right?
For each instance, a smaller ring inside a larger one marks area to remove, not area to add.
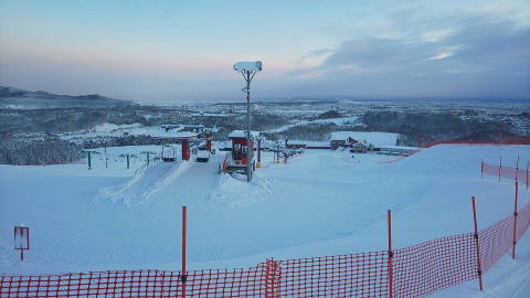
[[[353,97],[530,98],[530,28],[474,17],[405,39],[353,39],[318,67],[310,94]],[[442,33],[441,33],[442,32]]]

